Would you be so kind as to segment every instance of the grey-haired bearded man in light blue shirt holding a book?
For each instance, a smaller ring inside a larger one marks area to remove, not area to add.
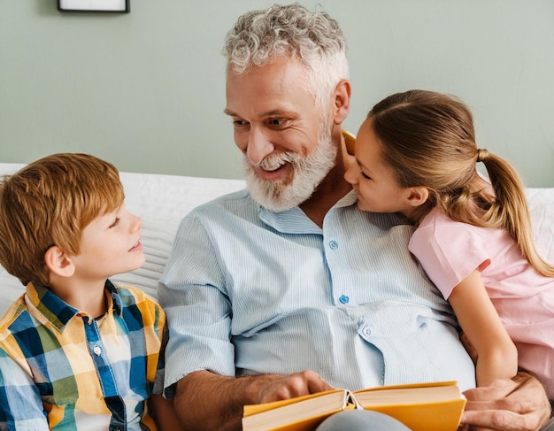
[[[450,307],[407,250],[412,227],[358,210],[343,178],[350,82],[336,21],[298,4],[246,13],[225,52],[248,190],[182,220],[158,289],[183,425],[240,429],[244,404],[331,387],[457,380],[488,400],[468,423],[540,427],[550,409],[534,379],[473,389]],[[403,429],[363,413],[360,429]]]

